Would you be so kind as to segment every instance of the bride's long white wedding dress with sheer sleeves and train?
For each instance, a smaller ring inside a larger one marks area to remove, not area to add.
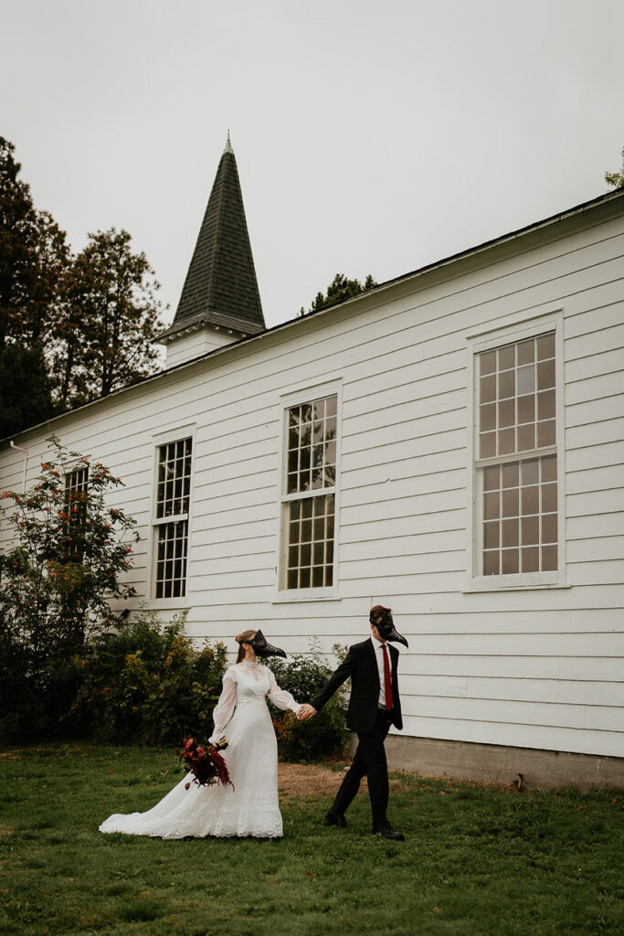
[[[282,813],[277,794],[277,740],[266,696],[278,709],[301,708],[290,693],[280,689],[268,666],[242,663],[224,675],[223,692],[212,713],[210,740],[224,735],[222,752],[231,786],[212,783],[198,786],[192,774],[181,781],[148,812],[115,814],[102,823],[100,832],[151,835],[160,839],[203,838],[207,835],[256,836],[277,839],[282,835]]]

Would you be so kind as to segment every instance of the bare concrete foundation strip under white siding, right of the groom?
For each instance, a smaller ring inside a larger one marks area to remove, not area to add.
[[[624,792],[624,757],[399,735],[388,736],[385,752],[391,770],[411,770],[422,776],[510,785],[519,782],[522,774],[523,786],[530,790],[606,786]]]

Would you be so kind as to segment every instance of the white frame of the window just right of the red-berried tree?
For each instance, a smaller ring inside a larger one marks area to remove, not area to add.
[[[158,453],[161,446],[168,446],[174,442],[180,442],[181,439],[192,440],[191,442],[191,486],[189,493],[189,511],[188,515],[176,515],[167,517],[167,523],[173,523],[176,520],[187,519],[187,543],[186,543],[186,578],[184,580],[184,594],[171,598],[156,597],[156,563],[158,560],[158,527],[162,525],[165,518],[156,518],[158,502]],[[150,497],[150,535],[147,555],[147,575],[146,575],[146,601],[147,606],[154,609],[174,609],[191,607],[189,597],[189,569],[191,564],[191,543],[192,543],[192,518],[193,502],[195,490],[196,475],[196,423],[187,423],[176,426],[173,429],[152,433],[152,492]]]

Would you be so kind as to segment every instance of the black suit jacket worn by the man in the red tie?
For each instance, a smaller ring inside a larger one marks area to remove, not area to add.
[[[399,676],[397,673],[399,651],[389,643],[386,643],[385,646],[390,651],[390,672],[392,676],[393,708],[390,719],[395,727],[402,728],[403,720],[400,714]],[[363,640],[362,643],[354,644],[353,647],[349,648],[344,661],[329,677],[323,689],[314,696],[311,705],[314,709],[320,711],[327,699],[331,698],[349,677],[351,677],[351,698],[347,712],[347,728],[362,733],[372,731],[377,717],[380,690],[379,670],[372,639]]]

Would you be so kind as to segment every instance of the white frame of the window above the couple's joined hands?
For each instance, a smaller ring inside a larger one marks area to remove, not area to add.
[[[284,571],[287,561],[288,549],[288,522],[286,513],[292,500],[297,495],[288,494],[287,491],[287,464],[288,453],[288,411],[293,406],[300,406],[305,402],[312,402],[321,397],[336,397],[336,484],[333,488],[321,488],[318,495],[334,494],[334,573],[332,584],[323,588],[287,589],[284,585]],[[280,396],[278,425],[280,430],[280,487],[278,504],[278,530],[276,554],[276,588],[273,601],[276,603],[302,602],[302,601],[336,601],[339,594],[339,550],[340,550],[340,506],[341,506],[341,449],[342,449],[342,380],[334,380],[323,384],[307,385],[303,388],[288,390]]]

